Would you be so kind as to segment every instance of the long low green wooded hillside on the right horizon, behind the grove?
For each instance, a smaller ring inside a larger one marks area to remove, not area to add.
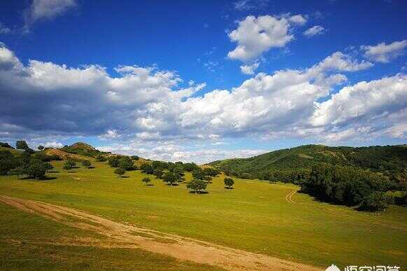
[[[370,147],[329,147],[306,145],[264,153],[252,158],[217,160],[208,165],[234,173],[258,176],[278,169],[307,168],[325,163],[399,172],[407,168],[407,145]]]

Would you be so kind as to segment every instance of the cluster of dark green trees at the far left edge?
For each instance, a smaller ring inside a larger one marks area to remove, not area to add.
[[[6,144],[1,145],[6,146]],[[20,175],[25,175],[29,179],[39,180],[54,168],[50,164],[53,156],[35,153],[23,140],[17,141],[15,146],[22,150],[18,155],[13,155],[11,151],[0,151],[0,175],[17,175],[18,179]]]

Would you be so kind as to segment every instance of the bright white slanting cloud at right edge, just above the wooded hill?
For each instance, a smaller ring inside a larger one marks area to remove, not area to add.
[[[326,102],[316,104],[310,118],[315,126],[338,127],[352,123],[379,124],[407,107],[407,76],[397,74],[370,82],[347,86]],[[403,123],[407,120],[405,116]]]

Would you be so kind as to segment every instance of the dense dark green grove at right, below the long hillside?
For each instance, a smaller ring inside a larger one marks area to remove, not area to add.
[[[301,190],[319,200],[347,206],[359,205],[368,211],[383,210],[393,199],[389,190],[406,190],[385,174],[351,166],[316,165],[299,181]]]

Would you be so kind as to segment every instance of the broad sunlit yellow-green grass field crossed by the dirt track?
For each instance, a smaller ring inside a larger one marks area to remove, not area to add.
[[[184,183],[166,186],[163,181],[149,176],[153,186],[146,186],[141,181],[146,175],[139,171],[127,172],[128,178],[118,178],[105,162],[93,163],[95,169],[78,168],[67,172],[61,169],[62,162],[55,162],[58,173],[48,176],[56,179],[48,181],[2,176],[0,195],[60,204],[153,230],[321,267],[332,263],[407,266],[407,210],[404,207],[391,206],[382,214],[371,214],[316,202],[299,193],[291,197],[293,203],[287,201],[286,196],[298,190],[297,186],[235,179],[235,189],[226,190],[223,176],[209,184],[208,194],[194,195],[188,193]],[[191,179],[191,175],[187,174],[186,179]],[[55,234],[61,230],[56,223],[41,222],[44,218],[18,213],[20,211],[4,204],[0,209],[1,221],[8,221],[9,228],[21,223],[22,216],[27,225],[36,223],[36,227],[48,227],[51,229],[48,232]],[[1,238],[18,237],[25,228],[20,226],[19,231],[11,230],[6,235],[1,232]],[[67,230],[67,234],[76,232]],[[13,249],[18,250],[18,247],[13,246]],[[81,250],[95,258],[107,253],[89,247]],[[57,251],[81,254],[68,247]],[[24,258],[29,253],[24,250],[21,255]],[[164,260],[150,254],[144,257],[147,253],[143,251],[112,249],[111,253],[122,257],[123,262],[130,260],[127,253],[132,253],[133,257],[143,260],[150,257],[147,267],[155,263],[159,266],[165,261],[174,269],[182,268],[181,263],[171,258]],[[2,249],[1,265],[12,266],[6,256],[8,251]],[[72,266],[80,267],[83,259],[73,258]],[[90,261],[86,263],[91,269],[98,267]],[[113,267],[113,263],[106,265],[106,269],[109,267]]]

